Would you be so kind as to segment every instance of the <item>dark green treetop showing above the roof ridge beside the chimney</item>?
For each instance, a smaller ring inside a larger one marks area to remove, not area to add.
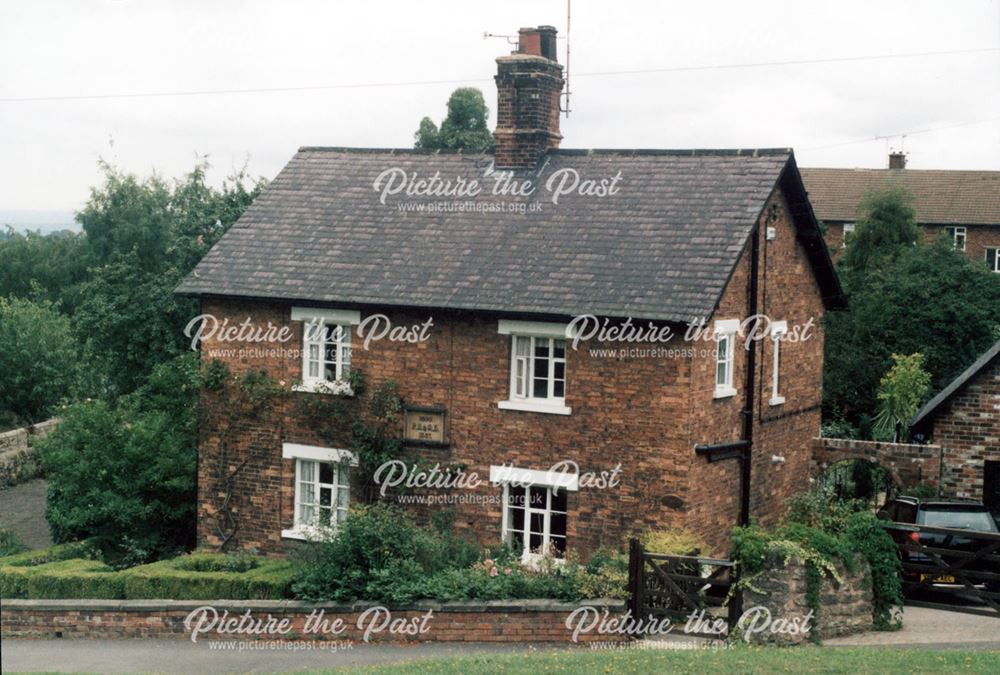
[[[429,117],[420,120],[413,147],[423,150],[469,150],[485,152],[493,147],[489,109],[483,92],[460,87],[448,98],[448,116],[441,128]]]

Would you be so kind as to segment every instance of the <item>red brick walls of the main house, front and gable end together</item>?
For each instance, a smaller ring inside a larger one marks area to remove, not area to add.
[[[763,522],[773,522],[783,510],[784,499],[807,484],[809,444],[819,430],[823,309],[780,195],[774,196],[766,214],[776,237],[767,241],[761,235],[759,311],[787,321],[790,330],[810,318],[815,322],[810,340],[782,345],[781,393],[786,402],[781,406],[768,404],[771,342],[755,343],[760,351],[752,512]],[[746,316],[748,270],[749,255],[744,254],[713,318]],[[206,301],[203,311],[236,323],[253,316],[256,324],[269,320],[292,324],[287,305],[218,300]],[[386,313],[394,325],[420,324],[429,316],[384,308],[361,311],[362,316]],[[677,337],[660,345],[678,352],[694,348],[694,356],[613,358],[592,355],[589,349],[616,348],[622,343],[582,343],[567,355],[566,404],[572,408],[571,415],[500,410],[497,402],[509,393],[510,337],[497,333],[498,318],[434,312],[433,319],[429,340],[420,344],[380,341],[366,351],[355,336],[352,361],[369,384],[394,379],[407,403],[447,409],[450,448],[425,449],[421,455],[442,465],[463,465],[485,483],[472,495],[481,501],[468,499],[455,505],[459,530],[484,546],[499,542],[502,491],[488,484],[491,465],[510,463],[545,470],[571,460],[582,472],[601,472],[620,463],[618,487],[570,493],[567,534],[572,549],[586,557],[602,545],[621,546],[629,534],[687,526],[702,533],[715,552],[725,551],[738,515],[739,464],[708,464],[693,448],[739,438],[746,352],[738,349],[736,353],[738,395],[716,400],[713,342],[692,344]],[[296,335],[281,345],[286,349],[298,349],[301,342],[301,324],[292,325]],[[761,344],[766,348],[761,349]],[[209,340],[202,347],[203,358],[215,348],[233,346]],[[262,368],[286,385],[300,377],[297,357],[223,360],[236,372]],[[237,466],[247,457],[250,461],[234,484],[233,510],[239,521],[235,545],[268,553],[287,551],[288,542],[280,532],[293,521],[294,465],[281,459],[281,443],[328,445],[295,412],[295,399],[309,396],[317,394],[294,394],[281,409],[237,424],[226,463]],[[203,545],[217,546],[221,543],[217,508],[222,497],[213,476],[228,420],[225,406],[211,408],[202,427],[198,538]],[[347,439],[339,447],[347,447]],[[784,457],[784,463],[772,463],[772,455]]]

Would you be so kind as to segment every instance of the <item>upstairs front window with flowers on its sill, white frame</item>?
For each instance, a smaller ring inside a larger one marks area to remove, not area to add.
[[[309,307],[292,309],[302,321],[302,384],[296,389],[350,394],[351,332],[360,313]]]

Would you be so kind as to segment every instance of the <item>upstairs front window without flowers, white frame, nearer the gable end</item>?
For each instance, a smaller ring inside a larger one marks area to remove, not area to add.
[[[510,336],[510,392],[498,406],[568,415],[566,406],[566,327],[532,321],[501,321]]]

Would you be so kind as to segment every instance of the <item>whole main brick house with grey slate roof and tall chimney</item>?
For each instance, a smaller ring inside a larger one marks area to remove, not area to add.
[[[212,467],[225,411],[206,415],[201,544],[219,545],[220,519],[235,514],[233,542],[282,553],[318,512],[342,517],[357,495],[349,440],[324,442],[295,404],[350,402],[351,369],[369,386],[398,382],[416,436],[434,441],[417,438],[413,453],[490,479],[449,507],[483,545],[586,556],[630,532],[683,526],[724,550],[745,478],[745,510],[765,523],[806,486],[823,317],[843,296],[793,154],[558,149],[555,30],[520,37],[497,59],[494,154],[301,148],[179,286],[220,321],[288,327],[284,346],[300,350],[261,356],[250,342],[203,339],[203,359],[263,370],[295,392],[226,443],[225,463],[245,468],[222,506]],[[574,173],[579,189],[556,199]],[[387,188],[404,178],[406,189]],[[413,194],[420,180],[434,194]],[[534,192],[506,189],[526,180]],[[473,181],[488,187],[431,188]],[[773,322],[742,348],[738,324],[755,314]],[[423,341],[366,344],[363,322],[379,315],[433,325]],[[567,326],[583,315],[675,334],[574,348]],[[712,339],[686,341],[700,319]],[[330,330],[308,329],[318,324]],[[795,339],[803,330],[809,339]],[[233,347],[248,351],[224,351]],[[548,470],[561,461],[581,475],[620,465],[620,483]]]

